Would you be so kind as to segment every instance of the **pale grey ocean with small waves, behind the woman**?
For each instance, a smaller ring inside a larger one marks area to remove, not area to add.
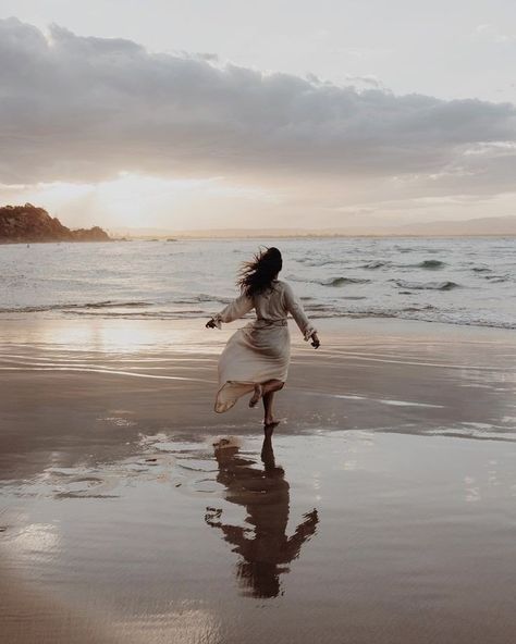
[[[516,329],[516,244],[493,238],[290,238],[0,246],[0,318],[208,318],[259,246],[312,318]]]

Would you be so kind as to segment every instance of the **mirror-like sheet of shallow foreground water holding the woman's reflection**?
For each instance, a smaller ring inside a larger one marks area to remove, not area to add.
[[[8,572],[126,642],[511,641],[514,447],[228,438],[4,488]]]

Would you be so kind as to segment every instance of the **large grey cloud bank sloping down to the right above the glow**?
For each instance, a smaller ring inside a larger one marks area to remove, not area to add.
[[[46,36],[16,18],[0,21],[0,62],[5,184],[107,181],[122,170],[376,181],[468,164],[486,186],[514,184],[514,156],[470,153],[511,149],[511,103],[395,96],[373,77],[358,91],[57,25]]]

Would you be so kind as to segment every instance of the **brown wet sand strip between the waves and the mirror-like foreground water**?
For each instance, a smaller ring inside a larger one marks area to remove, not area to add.
[[[512,332],[400,320],[320,322],[317,350],[290,325],[292,363],[278,397],[278,414],[287,422],[278,433],[310,432],[316,422],[511,438]],[[91,458],[103,449],[124,453],[126,441],[147,430],[189,437],[235,428],[259,432],[260,410],[249,411],[245,400],[224,414],[212,410],[218,356],[242,325],[210,331],[189,320],[0,321],[0,478],[37,471],[56,441],[70,446],[59,457],[70,462],[86,446]],[[505,421],[493,422],[493,407]],[[71,426],[70,409],[78,428]]]

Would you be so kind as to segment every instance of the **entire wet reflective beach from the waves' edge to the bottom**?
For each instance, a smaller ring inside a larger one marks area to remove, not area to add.
[[[196,324],[0,322],[1,642],[514,639],[514,332],[293,330],[263,444]]]

